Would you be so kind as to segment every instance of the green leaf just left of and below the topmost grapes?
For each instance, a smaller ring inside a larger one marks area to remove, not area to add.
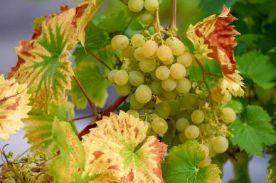
[[[130,18],[125,11],[117,11],[116,13],[110,13],[98,23],[98,26],[106,30],[108,33],[115,31],[122,32],[127,28]]]

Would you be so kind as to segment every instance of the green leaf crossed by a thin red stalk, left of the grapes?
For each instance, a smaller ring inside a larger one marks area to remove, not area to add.
[[[105,101],[108,97],[107,87],[110,85],[110,82],[105,79],[99,67],[92,62],[82,62],[74,69],[74,72],[90,99],[97,106],[105,106]],[[77,84],[72,84],[72,90],[69,91],[69,94],[72,96],[72,101],[78,109],[85,109],[87,100]]]

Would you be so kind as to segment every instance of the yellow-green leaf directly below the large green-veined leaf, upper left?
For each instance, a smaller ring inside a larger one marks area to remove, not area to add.
[[[59,106],[51,104],[49,113],[33,109],[24,120],[24,138],[28,138],[28,143],[36,147],[33,150],[42,148],[46,152],[54,153],[58,150],[51,138],[54,119],[68,121],[73,117],[74,105],[68,101],[63,101]]]

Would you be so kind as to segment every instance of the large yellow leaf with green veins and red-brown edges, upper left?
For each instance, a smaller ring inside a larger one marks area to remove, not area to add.
[[[100,5],[96,2],[100,1],[85,1],[73,9],[61,7],[60,13],[46,16],[40,27],[36,26],[32,40],[21,40],[16,48],[18,62],[9,78],[28,84],[34,106],[49,109],[51,103],[64,100],[73,76],[68,50],[83,37],[85,26]]]

